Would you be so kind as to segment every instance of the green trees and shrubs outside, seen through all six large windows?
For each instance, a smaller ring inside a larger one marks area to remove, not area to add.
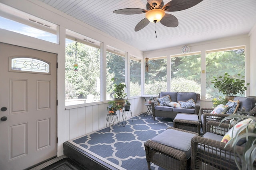
[[[74,71],[75,43],[66,47],[66,100],[87,99],[94,96],[100,100],[100,49],[78,43],[78,71]],[[124,57],[107,52],[106,94],[107,100],[114,98],[113,84],[124,83]],[[143,61],[144,62],[144,61]],[[148,61],[145,72],[144,94],[157,95],[167,90],[167,59]],[[171,91],[196,92],[201,94],[201,56],[192,55],[171,58]],[[141,94],[141,61],[130,60],[130,96]],[[211,79],[228,72],[231,76],[245,75],[244,49],[206,54],[206,98],[217,98],[223,94],[214,88]],[[235,76],[234,76],[235,77]],[[114,82],[111,81],[114,78]],[[237,77],[236,77],[237,78]]]

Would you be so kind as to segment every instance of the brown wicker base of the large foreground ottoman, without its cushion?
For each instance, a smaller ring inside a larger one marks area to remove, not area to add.
[[[192,133],[198,135],[191,131],[186,131],[182,129],[177,129],[174,127],[168,127],[168,129],[174,129],[177,131],[182,131],[186,133]],[[168,139],[166,139],[168,140]],[[184,152],[162,145],[155,141],[148,140],[145,144],[146,160],[148,162],[148,169],[150,170],[150,162],[165,168],[166,170],[186,170],[190,169],[190,158]]]

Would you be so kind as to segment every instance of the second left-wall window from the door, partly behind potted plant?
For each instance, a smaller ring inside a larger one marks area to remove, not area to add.
[[[125,82],[124,66],[124,56],[120,56],[114,52],[107,51],[107,100],[114,98],[113,84]],[[111,80],[112,78],[114,78],[114,81]]]

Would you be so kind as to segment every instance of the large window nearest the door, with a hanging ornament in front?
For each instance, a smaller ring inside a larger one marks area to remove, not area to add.
[[[66,39],[66,106],[100,101],[100,49],[77,41]]]

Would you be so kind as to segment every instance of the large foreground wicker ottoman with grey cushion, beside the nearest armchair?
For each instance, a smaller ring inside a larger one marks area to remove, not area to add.
[[[187,170],[191,162],[191,139],[197,133],[169,127],[144,144],[146,160],[166,170]]]

